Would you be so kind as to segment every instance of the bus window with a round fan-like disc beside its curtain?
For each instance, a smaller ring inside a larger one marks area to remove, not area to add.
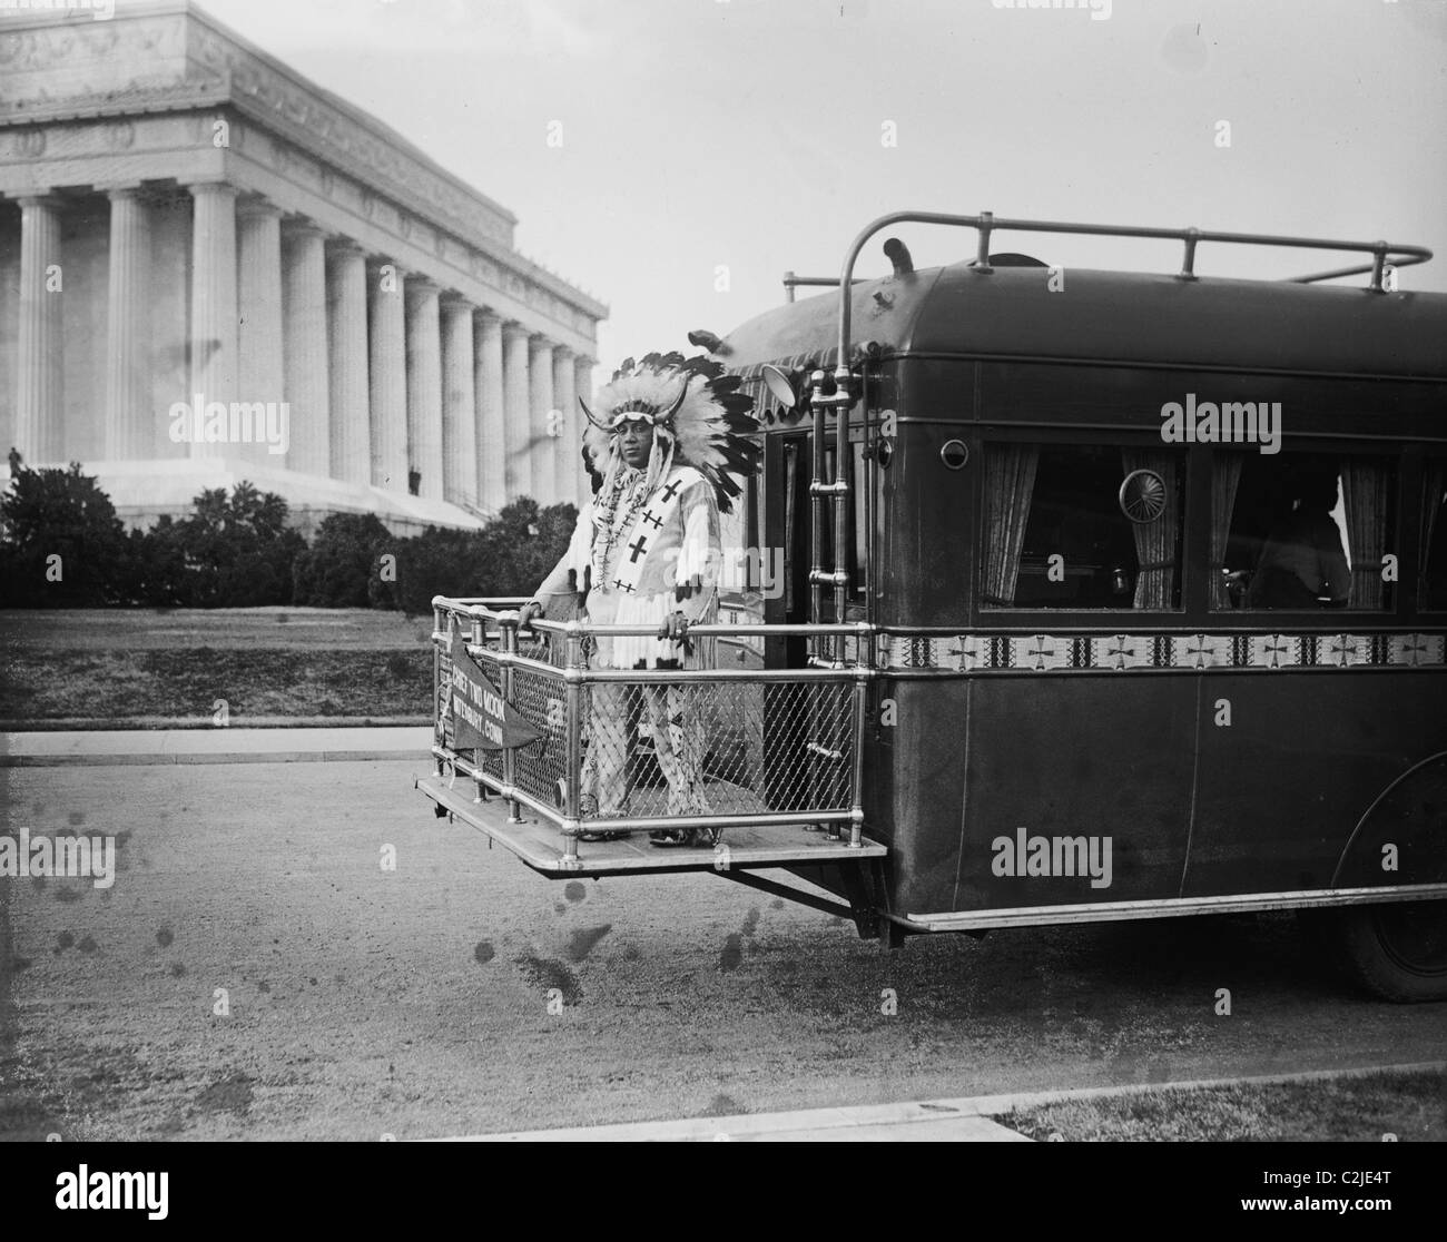
[[[1130,476],[1145,520],[1121,508]],[[1179,609],[1184,482],[1172,449],[987,444],[984,607]]]

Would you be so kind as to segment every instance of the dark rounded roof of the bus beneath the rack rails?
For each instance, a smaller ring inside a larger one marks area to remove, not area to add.
[[[1447,294],[1365,287],[1179,279],[1145,272],[972,263],[854,287],[855,349],[1020,358],[1121,366],[1182,366],[1447,379]],[[725,363],[832,366],[836,290],[781,305],[726,337]]]

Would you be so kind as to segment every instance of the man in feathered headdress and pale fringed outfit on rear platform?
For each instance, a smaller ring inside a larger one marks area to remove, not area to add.
[[[712,641],[690,640],[689,627],[718,617],[719,511],[729,512],[758,463],[758,444],[748,439],[758,430],[750,415],[754,402],[738,389],[739,379],[724,375],[716,362],[650,353],[637,363],[629,358],[614,373],[598,394],[598,415],[579,398],[592,424],[583,436],[585,457],[602,483],[583,507],[563,559],[522,609],[522,624],[546,614],[548,596],[577,592],[583,615],[598,625],[657,627],[655,635],[598,637],[593,667],[712,663]],[[599,683],[589,693],[585,815],[624,814],[629,695],[641,696],[648,714],[654,754],[669,782],[669,814],[710,814],[703,727],[682,686]],[[716,840],[708,831],[650,835],[655,845]]]

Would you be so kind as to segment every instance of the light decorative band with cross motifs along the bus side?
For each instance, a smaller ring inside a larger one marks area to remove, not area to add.
[[[1444,634],[958,634],[880,638],[886,669],[1349,669],[1447,666]]]

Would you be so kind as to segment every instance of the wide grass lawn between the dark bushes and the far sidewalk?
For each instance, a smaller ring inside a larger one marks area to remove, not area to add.
[[[259,717],[431,718],[431,618],[256,608],[0,614],[0,717],[210,727]]]

